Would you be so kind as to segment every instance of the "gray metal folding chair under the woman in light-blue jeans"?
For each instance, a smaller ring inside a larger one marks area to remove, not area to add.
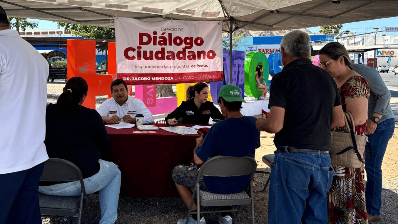
[[[42,217],[77,219],[82,222],[83,204],[86,207],[87,219],[91,224],[88,196],[84,188],[83,176],[80,169],[65,159],[50,158],[44,163],[43,175],[40,181],[71,182],[80,181],[82,190],[80,196],[51,196],[39,193],[40,212]],[[55,183],[54,183],[55,184]],[[75,215],[78,214],[76,217]]]

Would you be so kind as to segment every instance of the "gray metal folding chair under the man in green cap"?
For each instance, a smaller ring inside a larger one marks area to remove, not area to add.
[[[200,220],[201,213],[213,213],[213,212],[237,212],[233,219],[233,223],[236,223],[240,210],[245,204],[251,204],[252,206],[252,224],[254,224],[254,201],[253,201],[253,189],[252,179],[256,171],[257,163],[252,157],[224,157],[215,156],[207,160],[199,169],[199,173],[196,179],[196,187],[193,189],[193,195],[191,198],[191,204],[188,209],[187,218],[185,224],[188,222],[188,218],[193,214],[197,214],[198,220]],[[237,177],[250,175],[250,181],[247,183],[247,187],[244,191],[234,194],[215,194],[207,191],[201,191],[199,189],[199,181],[202,176],[212,177]],[[197,201],[197,212],[192,212],[192,205],[195,200]],[[239,205],[238,209],[231,210],[217,210],[217,211],[203,211],[201,212],[200,206],[227,206],[227,205]]]

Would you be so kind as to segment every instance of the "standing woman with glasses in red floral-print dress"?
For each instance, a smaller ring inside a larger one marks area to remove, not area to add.
[[[322,47],[319,61],[318,66],[336,81],[343,110],[351,112],[354,118],[355,133],[365,134],[370,96],[367,81],[352,70],[348,52],[338,42]],[[348,133],[344,127],[339,131]],[[367,223],[364,166],[353,169],[332,164],[332,168],[334,178],[328,192],[328,223]]]

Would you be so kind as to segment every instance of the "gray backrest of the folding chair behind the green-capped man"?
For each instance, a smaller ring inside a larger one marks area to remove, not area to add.
[[[211,157],[200,167],[198,177],[237,177],[251,175],[256,172],[257,162],[253,157],[215,156]]]

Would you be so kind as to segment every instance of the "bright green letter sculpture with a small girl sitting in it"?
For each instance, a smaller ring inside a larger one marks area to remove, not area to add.
[[[245,92],[248,96],[258,98],[263,89],[256,86],[256,66],[263,66],[264,82],[268,84],[269,66],[267,56],[262,52],[251,52],[245,59]]]

